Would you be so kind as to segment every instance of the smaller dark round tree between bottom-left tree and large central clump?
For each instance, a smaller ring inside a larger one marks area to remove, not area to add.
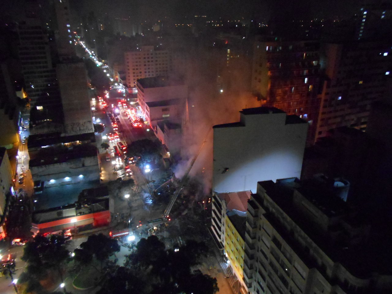
[[[80,248],[74,250],[75,261],[78,261],[80,265],[89,265],[95,259],[100,263],[101,272],[109,257],[120,251],[117,240],[111,239],[102,233],[89,236],[87,241],[80,244]]]

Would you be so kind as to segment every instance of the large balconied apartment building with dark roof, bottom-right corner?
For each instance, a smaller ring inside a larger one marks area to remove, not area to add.
[[[374,272],[362,247],[370,227],[342,200],[347,183],[314,181],[258,183],[245,233],[249,293],[387,293],[390,274]]]

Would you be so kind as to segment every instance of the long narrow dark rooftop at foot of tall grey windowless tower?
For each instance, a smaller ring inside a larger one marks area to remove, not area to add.
[[[28,148],[41,147],[47,145],[54,145],[60,143],[70,143],[76,141],[89,141],[95,142],[94,133],[85,133],[72,136],[60,136],[60,133],[50,133],[50,134],[36,134],[30,135],[27,142]]]

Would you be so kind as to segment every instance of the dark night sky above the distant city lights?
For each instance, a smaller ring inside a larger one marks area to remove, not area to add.
[[[45,0],[24,0],[45,1]],[[22,16],[21,1],[0,1],[3,16]],[[349,18],[363,3],[391,3],[392,0],[70,0],[81,13],[94,11],[97,15],[137,17],[139,20],[159,19],[165,16],[182,20],[185,16],[207,15],[211,18],[274,18],[311,19],[339,16]]]

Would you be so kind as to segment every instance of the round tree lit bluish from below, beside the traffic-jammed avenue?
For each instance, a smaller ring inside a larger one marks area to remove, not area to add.
[[[128,145],[128,152],[131,157],[140,157],[136,162],[138,167],[144,167],[146,164],[157,165],[162,160],[161,145],[158,140],[142,139],[134,141]]]

